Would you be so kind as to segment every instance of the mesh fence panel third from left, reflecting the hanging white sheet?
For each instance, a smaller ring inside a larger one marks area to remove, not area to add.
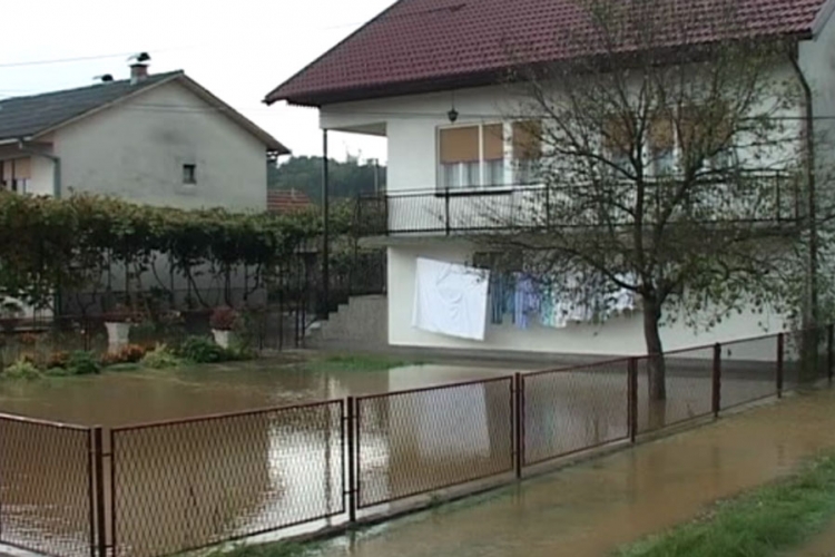
[[[513,469],[512,378],[356,400],[357,507]]]

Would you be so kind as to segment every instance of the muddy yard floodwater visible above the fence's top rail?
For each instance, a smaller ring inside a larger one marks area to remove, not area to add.
[[[389,371],[310,371],[286,363],[1,382],[0,412],[81,426],[119,427],[148,421],[302,404],[490,378],[513,368],[406,365]]]

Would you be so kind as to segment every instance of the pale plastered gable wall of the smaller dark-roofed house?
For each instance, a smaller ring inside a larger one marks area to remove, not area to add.
[[[266,147],[176,82],[59,129],[63,194],[181,208],[266,209]],[[183,165],[197,183],[184,184]],[[50,170],[51,172],[51,170]]]

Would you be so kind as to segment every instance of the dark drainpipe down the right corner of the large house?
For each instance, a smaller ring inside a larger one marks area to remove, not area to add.
[[[814,107],[812,98],[812,87],[809,86],[806,76],[800,69],[798,62],[798,43],[794,43],[794,48],[789,51],[788,56],[792,62],[792,68],[797,75],[797,81],[803,90],[803,137],[804,137],[804,155],[806,158],[806,183],[808,187],[807,194],[807,207],[806,207],[806,219],[809,231],[809,253],[808,253],[808,284],[807,284],[807,300],[808,307],[804,312],[803,321],[804,329],[812,329],[817,326],[818,321],[818,307],[817,307],[817,206],[816,206],[816,163],[815,163],[815,119],[814,119]]]

